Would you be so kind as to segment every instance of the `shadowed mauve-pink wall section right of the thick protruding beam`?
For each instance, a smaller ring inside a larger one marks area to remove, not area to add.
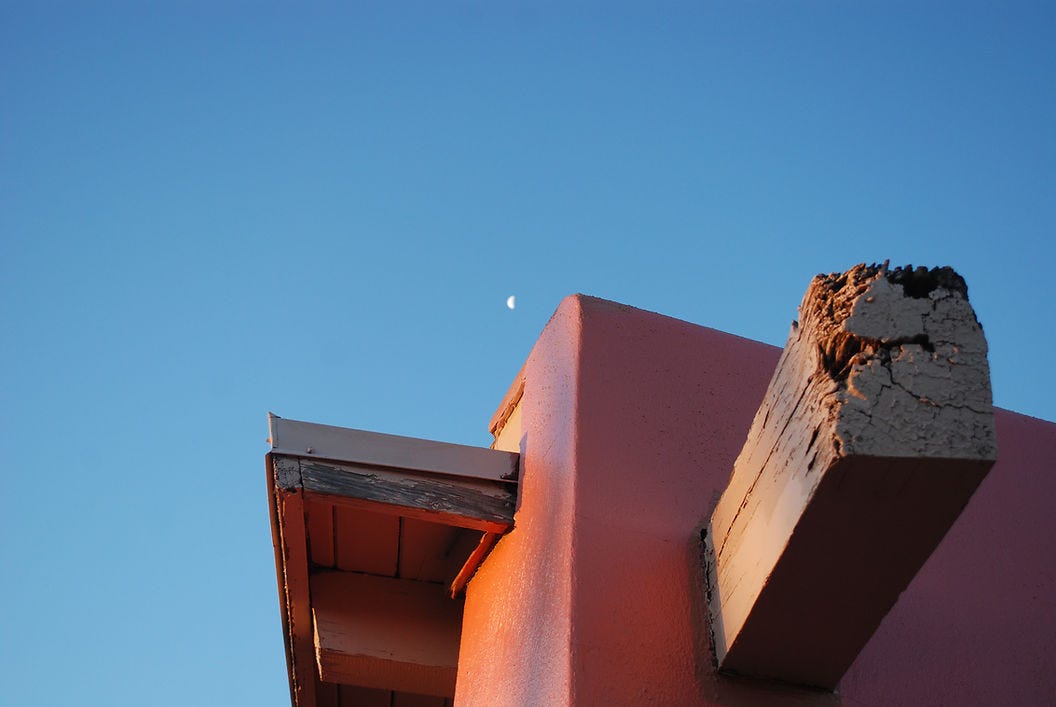
[[[1056,424],[998,409],[997,441],[994,469],[844,676],[849,704],[1056,705]]]

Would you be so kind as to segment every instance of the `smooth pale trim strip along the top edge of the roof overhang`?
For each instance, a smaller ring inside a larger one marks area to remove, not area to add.
[[[268,424],[274,454],[491,481],[512,479],[517,469],[516,454],[486,447],[284,420],[270,414]]]

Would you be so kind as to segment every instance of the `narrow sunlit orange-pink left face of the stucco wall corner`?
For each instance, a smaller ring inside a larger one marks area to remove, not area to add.
[[[572,689],[572,501],[580,312],[565,300],[525,365],[515,526],[466,593],[455,702],[562,705]],[[530,480],[529,480],[530,479]]]

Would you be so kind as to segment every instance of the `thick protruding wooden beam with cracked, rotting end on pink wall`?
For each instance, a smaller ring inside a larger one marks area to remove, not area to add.
[[[960,275],[815,278],[706,532],[718,667],[835,687],[996,458]]]

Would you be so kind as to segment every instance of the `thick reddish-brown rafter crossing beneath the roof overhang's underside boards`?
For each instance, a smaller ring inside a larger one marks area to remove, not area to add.
[[[323,680],[454,696],[463,604],[442,586],[327,572],[312,577],[312,596]]]

